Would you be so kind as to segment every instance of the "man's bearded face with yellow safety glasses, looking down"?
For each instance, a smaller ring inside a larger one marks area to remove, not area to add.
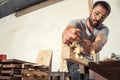
[[[94,9],[92,9],[90,13],[89,16],[90,25],[93,27],[97,27],[104,21],[106,17],[107,17],[107,10],[101,5],[98,5]]]

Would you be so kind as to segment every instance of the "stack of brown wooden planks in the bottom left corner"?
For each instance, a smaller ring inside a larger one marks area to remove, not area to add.
[[[48,66],[8,59],[0,62],[0,80],[47,80]]]

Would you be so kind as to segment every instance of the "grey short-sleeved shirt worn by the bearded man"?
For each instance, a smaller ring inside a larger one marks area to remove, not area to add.
[[[81,30],[81,39],[88,39],[91,42],[95,41],[97,35],[103,34],[104,38],[101,44],[104,45],[108,39],[109,29],[104,24],[100,24],[97,28],[94,28],[93,32],[91,33],[87,28],[86,20],[86,18],[72,20],[69,25],[79,28]]]

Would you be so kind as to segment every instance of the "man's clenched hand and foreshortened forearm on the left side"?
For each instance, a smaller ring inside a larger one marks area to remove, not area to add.
[[[64,44],[70,44],[74,41],[80,41],[80,29],[74,26],[68,26],[62,34],[62,42]]]

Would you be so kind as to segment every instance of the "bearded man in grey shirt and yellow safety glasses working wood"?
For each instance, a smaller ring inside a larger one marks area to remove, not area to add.
[[[65,28],[62,34],[62,42],[71,44],[72,42],[83,41],[87,49],[99,52],[108,39],[109,29],[102,24],[111,12],[110,5],[105,1],[97,1],[90,10],[90,16],[86,19],[73,20]],[[68,62],[70,80],[81,80],[77,64]]]

